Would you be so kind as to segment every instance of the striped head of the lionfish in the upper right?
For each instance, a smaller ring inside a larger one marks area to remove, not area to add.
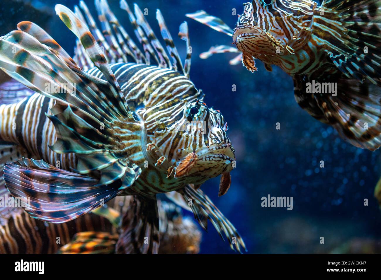
[[[253,0],[244,3],[233,41],[243,53],[263,56],[292,54],[310,38],[313,12],[311,0]]]

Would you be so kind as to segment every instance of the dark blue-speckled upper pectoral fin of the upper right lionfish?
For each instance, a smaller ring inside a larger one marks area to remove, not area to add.
[[[327,0],[314,26],[331,60],[347,77],[381,86],[381,2]]]

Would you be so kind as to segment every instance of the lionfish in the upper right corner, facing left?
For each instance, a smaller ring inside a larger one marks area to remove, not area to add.
[[[187,14],[232,36],[237,48],[218,46],[202,54],[240,52],[254,72],[255,59],[279,66],[294,81],[295,99],[312,117],[332,125],[356,147],[381,146],[381,1],[253,0],[244,3],[235,29],[205,11]]]

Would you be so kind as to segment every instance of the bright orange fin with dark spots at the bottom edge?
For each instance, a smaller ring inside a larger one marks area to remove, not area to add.
[[[78,232],[58,254],[113,254],[119,235],[109,232]]]

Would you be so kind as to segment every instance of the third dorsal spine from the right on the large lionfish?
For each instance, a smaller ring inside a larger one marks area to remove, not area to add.
[[[136,22],[143,28],[143,30],[146,32],[148,40],[150,41],[151,45],[154,47],[160,62],[158,62],[159,67],[166,68],[167,66],[170,67],[171,62],[162,46],[162,44],[157,40],[154,31],[149,26],[148,22],[144,18],[144,15],[142,11],[140,10],[139,6],[137,4],[134,4],[134,11],[136,15]]]

